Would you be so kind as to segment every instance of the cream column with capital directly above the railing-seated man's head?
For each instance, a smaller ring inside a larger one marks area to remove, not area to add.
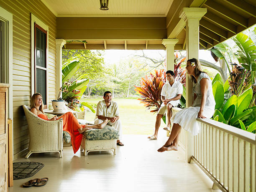
[[[163,39],[162,44],[166,47],[166,68],[174,71],[174,46],[178,39]]]

